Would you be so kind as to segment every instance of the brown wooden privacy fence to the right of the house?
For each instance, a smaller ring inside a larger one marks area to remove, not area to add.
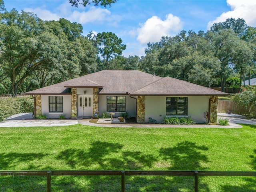
[[[250,112],[248,109],[239,106],[234,101],[231,100],[218,100],[218,113],[235,113],[239,115],[254,115],[256,116],[256,108],[252,109]]]

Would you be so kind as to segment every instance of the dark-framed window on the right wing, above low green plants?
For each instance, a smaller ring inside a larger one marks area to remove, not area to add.
[[[166,97],[166,115],[188,115],[188,98]]]

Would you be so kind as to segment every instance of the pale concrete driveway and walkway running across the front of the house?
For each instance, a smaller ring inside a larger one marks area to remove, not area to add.
[[[97,127],[134,127],[134,128],[242,128],[240,124],[254,124],[256,125],[256,119],[245,119],[244,116],[236,114],[218,114],[220,118],[228,118],[229,126],[208,125],[208,124],[196,124],[196,125],[166,125],[166,124],[124,124],[124,123],[112,123],[112,124],[95,124],[90,123],[89,119],[73,120],[73,119],[32,119],[32,114],[16,114],[11,116],[6,121],[0,122],[0,127],[34,127],[34,126],[66,126],[74,124],[82,124],[87,126]],[[29,118],[29,119],[26,119]]]

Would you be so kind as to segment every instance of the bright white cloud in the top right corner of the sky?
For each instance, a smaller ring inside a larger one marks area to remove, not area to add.
[[[214,21],[208,22],[207,29],[210,29],[212,24],[224,22],[227,18],[243,18],[248,26],[256,26],[256,1],[255,0],[227,0],[231,11],[224,12]]]

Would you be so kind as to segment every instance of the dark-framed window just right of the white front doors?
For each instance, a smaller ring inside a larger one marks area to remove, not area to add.
[[[107,96],[107,111],[125,112],[125,96]]]

